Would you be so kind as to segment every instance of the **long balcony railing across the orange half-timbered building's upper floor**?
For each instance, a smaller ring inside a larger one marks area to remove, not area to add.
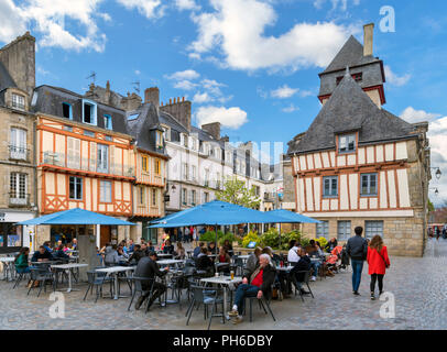
[[[109,164],[108,167],[105,168],[102,166],[98,166],[95,160],[92,161],[91,158],[87,157],[74,157],[70,155],[66,156],[64,153],[44,152],[43,164],[70,168],[80,172],[92,172],[124,177],[135,176],[134,168],[129,165],[115,163]]]

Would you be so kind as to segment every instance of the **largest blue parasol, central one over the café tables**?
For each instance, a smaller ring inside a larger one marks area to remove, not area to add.
[[[149,228],[229,226],[239,223],[275,223],[284,218],[229,202],[212,200],[152,222]]]

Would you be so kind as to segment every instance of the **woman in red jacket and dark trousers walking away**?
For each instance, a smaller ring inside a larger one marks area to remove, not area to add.
[[[383,245],[383,240],[380,235],[374,235],[368,246],[367,256],[369,271],[371,275],[371,299],[375,299],[375,282],[379,282],[379,296],[383,293],[383,276],[386,268],[390,266],[390,258],[388,256],[386,246]]]

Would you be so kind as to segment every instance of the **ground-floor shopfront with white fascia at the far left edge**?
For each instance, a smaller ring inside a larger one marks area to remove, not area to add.
[[[22,246],[30,246],[33,227],[22,228],[15,223],[33,218],[32,212],[0,210],[0,254],[19,252]]]

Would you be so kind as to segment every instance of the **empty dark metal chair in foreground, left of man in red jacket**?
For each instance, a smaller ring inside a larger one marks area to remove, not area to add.
[[[197,309],[198,309],[200,307],[200,305],[204,305],[205,320],[208,318],[208,307],[209,306],[212,307],[211,314],[209,315],[208,330],[211,327],[212,317],[220,317],[220,315],[215,315],[217,305],[222,306],[221,318],[222,318],[222,322],[225,323],[224,298],[220,295],[224,293],[222,288],[208,288],[208,287],[205,288],[204,286],[194,285],[190,287],[190,290],[193,294],[193,299],[186,311],[186,316],[188,317],[186,319],[186,324],[189,323],[189,319],[190,319],[194,308],[197,306]]]

